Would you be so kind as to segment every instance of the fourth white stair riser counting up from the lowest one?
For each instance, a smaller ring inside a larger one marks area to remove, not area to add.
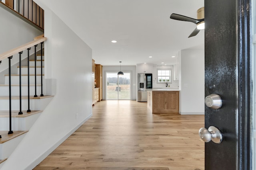
[[[12,86],[11,88],[12,96],[20,95],[20,86]],[[30,96],[35,95],[35,86],[30,86],[29,93]],[[41,94],[41,86],[36,86],[36,94]],[[28,96],[28,86],[21,86],[21,95]],[[0,96],[9,96],[9,86],[0,86]]]

